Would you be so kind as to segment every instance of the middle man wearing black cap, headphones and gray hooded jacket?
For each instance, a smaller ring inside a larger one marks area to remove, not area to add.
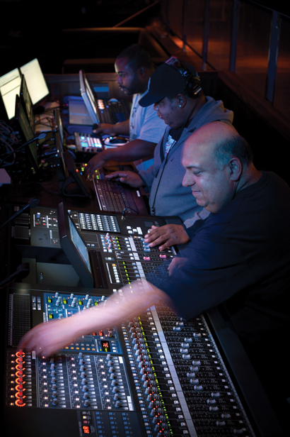
[[[182,187],[183,144],[192,132],[207,123],[222,121],[231,124],[233,112],[226,110],[222,101],[205,96],[195,69],[176,57],[170,57],[153,72],[149,90],[139,100],[140,106],[151,104],[168,125],[155,148],[153,165],[138,175],[115,172],[108,179],[120,177],[121,182],[132,187],[146,187],[150,192],[152,215],[180,216],[182,221],[186,221],[198,214],[202,207],[192,201],[190,187]]]

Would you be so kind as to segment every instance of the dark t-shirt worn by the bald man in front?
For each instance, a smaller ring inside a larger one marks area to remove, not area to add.
[[[290,189],[272,172],[242,189],[218,214],[187,229],[187,262],[158,280],[191,319],[224,304],[238,335],[255,341],[290,321]]]

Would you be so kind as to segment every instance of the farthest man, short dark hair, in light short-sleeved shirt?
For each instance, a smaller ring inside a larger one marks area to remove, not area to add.
[[[156,144],[161,139],[165,126],[158,117],[153,105],[142,108],[139,99],[146,93],[149,78],[154,71],[153,61],[149,53],[138,44],[124,49],[115,62],[117,84],[122,92],[133,96],[132,110],[129,120],[116,124],[100,123],[95,130],[100,135],[129,135],[129,143],[118,148],[110,148],[95,155],[86,168],[88,176],[105,165],[108,160],[132,162],[153,157]],[[147,163],[147,162],[146,162]],[[151,165],[151,162],[149,162]],[[144,170],[141,161],[138,170]]]

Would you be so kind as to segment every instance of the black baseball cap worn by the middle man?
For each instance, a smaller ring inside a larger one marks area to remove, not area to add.
[[[183,62],[183,65],[185,65],[186,70],[189,70],[192,77],[195,77],[197,80],[199,80],[198,74],[192,65],[185,62]],[[158,101],[161,101],[164,99],[164,97],[184,93],[187,80],[187,77],[183,76],[177,68],[166,62],[163,62],[163,64],[159,65],[159,67],[157,67],[151,75],[148,84],[148,91],[145,96],[139,100],[139,105],[150,106]]]

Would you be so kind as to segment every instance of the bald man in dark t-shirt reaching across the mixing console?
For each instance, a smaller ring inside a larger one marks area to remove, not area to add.
[[[286,360],[279,360],[285,348],[276,346],[286,344],[289,331],[290,189],[274,173],[255,168],[248,143],[226,123],[209,123],[193,133],[182,165],[182,184],[210,214],[187,229],[190,241],[171,262],[170,275],[156,272],[153,284],[144,281],[140,288],[133,282],[105,304],[40,324],[20,347],[49,356],[74,338],[114,326],[159,301],[185,319],[223,304],[245,344],[260,350],[257,346],[267,342],[279,376],[286,375],[283,385],[276,384],[276,375],[268,387],[286,390],[289,372],[283,369]],[[259,357],[259,369],[269,377],[272,360]]]

